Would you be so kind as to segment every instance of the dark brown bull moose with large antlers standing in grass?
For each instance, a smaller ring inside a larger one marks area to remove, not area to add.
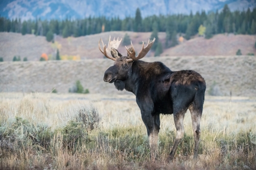
[[[122,40],[122,39],[121,39]],[[184,136],[183,119],[187,109],[192,118],[193,135],[195,141],[194,159],[197,159],[200,119],[202,115],[206,82],[203,77],[193,70],[171,71],[161,62],[141,61],[155,42],[148,40],[146,47],[136,56],[131,41],[131,48],[127,49],[127,56],[122,56],[117,50],[121,40],[111,41],[108,48],[100,38],[99,50],[108,58],[115,61],[104,74],[104,81],[113,83],[117,90],[132,92],[136,95],[136,102],[141,110],[141,117],[146,126],[149,138],[150,158],[155,161],[158,155],[158,133],[160,130],[160,114],[173,114],[176,137],[167,161],[172,161],[177,146]],[[100,47],[100,41],[103,50]]]

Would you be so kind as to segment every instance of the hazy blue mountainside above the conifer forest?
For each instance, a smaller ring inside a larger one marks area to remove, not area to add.
[[[0,15],[14,19],[65,19],[89,16],[134,16],[140,8],[142,17],[150,15],[189,14],[221,10],[228,4],[231,11],[256,7],[256,0],[3,0]]]

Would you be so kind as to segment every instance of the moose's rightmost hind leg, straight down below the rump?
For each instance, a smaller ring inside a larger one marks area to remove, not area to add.
[[[198,148],[199,148],[199,139],[200,139],[200,119],[202,115],[202,108],[195,108],[194,104],[191,104],[189,107],[191,118],[192,118],[192,127],[193,127],[193,134],[195,140],[195,150],[194,150],[194,157],[193,159],[197,159],[198,155]]]

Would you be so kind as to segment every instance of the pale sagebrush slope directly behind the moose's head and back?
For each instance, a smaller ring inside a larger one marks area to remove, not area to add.
[[[173,71],[197,71],[207,82],[207,95],[228,96],[232,91],[234,96],[256,96],[255,56],[163,56],[142,60],[161,61]],[[0,92],[50,92],[56,88],[67,93],[80,80],[90,93],[130,94],[103,81],[104,72],[112,65],[109,59],[0,62]]]

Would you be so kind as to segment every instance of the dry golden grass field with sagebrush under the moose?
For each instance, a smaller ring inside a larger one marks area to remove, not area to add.
[[[173,162],[173,117],[161,115],[159,151],[149,161],[133,95],[0,93],[0,169],[255,169],[256,97],[206,96],[199,158],[190,112]]]

